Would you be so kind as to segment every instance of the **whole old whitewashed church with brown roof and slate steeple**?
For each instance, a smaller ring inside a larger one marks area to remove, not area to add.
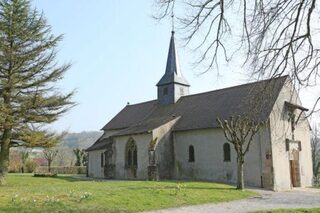
[[[237,159],[216,119],[254,114],[265,125],[245,157],[245,184],[312,185],[310,125],[288,76],[189,94],[172,32],[156,100],[125,106],[88,151],[88,175],[130,180],[235,183]]]

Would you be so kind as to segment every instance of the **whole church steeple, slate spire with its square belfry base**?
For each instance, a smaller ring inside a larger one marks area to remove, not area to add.
[[[180,70],[180,62],[175,46],[174,31],[171,32],[168,59],[165,74],[157,84],[160,104],[173,104],[181,96],[189,94],[189,83]]]

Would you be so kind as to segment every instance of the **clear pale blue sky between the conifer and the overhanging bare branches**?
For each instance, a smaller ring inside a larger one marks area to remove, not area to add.
[[[64,34],[57,61],[72,63],[59,82],[62,91],[76,90],[77,106],[50,125],[54,131],[100,130],[129,102],[154,100],[156,84],[165,72],[171,21],[152,18],[153,0],[34,0],[55,35]],[[194,53],[177,48],[182,73],[191,84],[190,93],[247,83],[239,66],[222,64],[219,75],[195,67]]]

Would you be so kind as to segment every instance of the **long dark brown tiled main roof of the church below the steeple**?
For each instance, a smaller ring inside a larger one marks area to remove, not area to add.
[[[248,114],[259,109],[255,119],[267,120],[287,76],[181,97],[175,104],[157,100],[127,105],[103,130],[120,130],[116,135],[148,132],[179,118],[173,131],[217,128],[216,118]],[[256,101],[259,97],[261,100]],[[252,104],[254,103],[254,104]],[[259,103],[259,104],[255,104]]]

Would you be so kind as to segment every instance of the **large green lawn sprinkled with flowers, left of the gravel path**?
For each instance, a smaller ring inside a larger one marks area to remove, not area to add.
[[[10,174],[7,185],[0,187],[0,212],[139,212],[254,195],[208,182],[84,181]]]

